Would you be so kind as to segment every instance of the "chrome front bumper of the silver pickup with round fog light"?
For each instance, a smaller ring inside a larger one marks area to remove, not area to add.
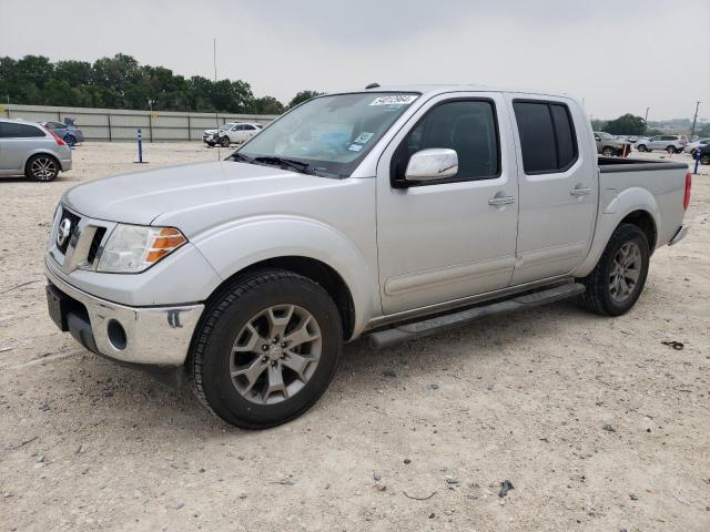
[[[69,298],[65,330],[87,349],[133,365],[184,364],[204,305],[128,307],[79,290],[49,266],[44,273],[50,284]],[[123,330],[123,341],[116,341],[116,323]]]

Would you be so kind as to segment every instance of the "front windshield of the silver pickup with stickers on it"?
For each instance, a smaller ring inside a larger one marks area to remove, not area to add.
[[[348,177],[419,94],[335,94],[315,98],[276,120],[232,156],[235,161]]]

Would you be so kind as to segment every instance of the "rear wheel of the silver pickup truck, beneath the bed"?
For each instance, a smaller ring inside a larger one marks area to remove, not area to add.
[[[636,225],[621,224],[612,233],[595,269],[584,279],[582,305],[601,316],[620,316],[638,300],[646,278],[650,252],[648,239]]]

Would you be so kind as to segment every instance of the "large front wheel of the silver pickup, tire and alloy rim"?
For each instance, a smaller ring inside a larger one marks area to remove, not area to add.
[[[189,372],[197,398],[227,423],[265,429],[308,410],[328,387],[343,329],[328,294],[306,277],[254,273],[211,304]]]

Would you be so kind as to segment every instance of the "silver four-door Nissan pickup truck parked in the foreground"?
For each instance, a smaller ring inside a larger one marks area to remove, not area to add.
[[[225,421],[271,427],[315,403],[344,341],[568,297],[628,311],[653,250],[688,231],[687,170],[598,158],[565,95],[318,96],[224,161],[67,192],[49,313],[98,355],[184,376]]]

